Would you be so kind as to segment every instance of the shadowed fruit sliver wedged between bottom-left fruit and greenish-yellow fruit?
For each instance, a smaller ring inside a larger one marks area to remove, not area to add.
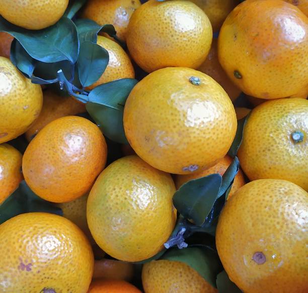
[[[90,243],[95,243],[87,223],[87,200],[89,194],[70,202],[57,204],[63,212],[63,217],[77,225],[88,237]]]

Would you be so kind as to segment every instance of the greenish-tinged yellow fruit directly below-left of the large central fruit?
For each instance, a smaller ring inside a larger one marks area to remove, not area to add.
[[[88,199],[87,219],[96,243],[123,261],[152,257],[173,231],[174,192],[170,174],[137,156],[113,162],[99,175]]]

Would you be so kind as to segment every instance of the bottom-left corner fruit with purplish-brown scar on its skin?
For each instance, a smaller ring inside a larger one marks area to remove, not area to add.
[[[67,219],[28,213],[0,225],[0,291],[85,293],[93,252],[82,231]]]

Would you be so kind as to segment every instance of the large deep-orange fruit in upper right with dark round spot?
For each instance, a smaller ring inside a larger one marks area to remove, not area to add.
[[[223,23],[218,57],[247,94],[277,99],[306,86],[308,18],[280,0],[248,0]]]

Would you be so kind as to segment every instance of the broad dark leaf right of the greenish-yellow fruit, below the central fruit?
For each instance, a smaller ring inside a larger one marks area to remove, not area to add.
[[[201,226],[215,203],[221,182],[222,177],[219,174],[186,182],[173,196],[175,208],[185,218],[192,219],[196,225]]]

